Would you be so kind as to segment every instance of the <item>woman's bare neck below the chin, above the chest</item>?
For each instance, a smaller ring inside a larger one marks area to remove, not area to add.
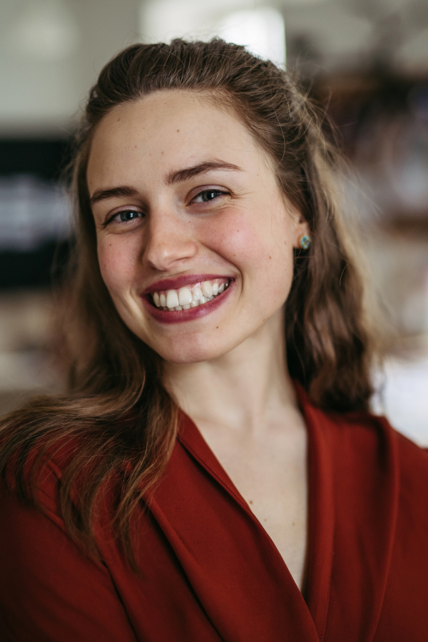
[[[165,364],[165,386],[193,419],[235,430],[263,430],[296,407],[287,372],[283,310],[245,342],[214,360]]]

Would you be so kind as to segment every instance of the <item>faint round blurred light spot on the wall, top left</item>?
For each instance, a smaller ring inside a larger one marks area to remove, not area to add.
[[[76,20],[63,0],[28,2],[9,36],[15,51],[46,61],[67,58],[78,41]]]

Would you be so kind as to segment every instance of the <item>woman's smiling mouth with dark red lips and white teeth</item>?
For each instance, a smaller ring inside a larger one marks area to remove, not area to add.
[[[143,295],[143,302],[157,320],[175,322],[205,316],[218,307],[233,279],[215,279],[190,282],[179,288],[156,290]],[[161,285],[161,283],[159,284]]]

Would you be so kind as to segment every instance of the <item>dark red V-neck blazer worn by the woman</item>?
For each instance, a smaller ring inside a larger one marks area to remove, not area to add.
[[[193,422],[138,531],[138,578],[109,536],[102,563],[56,509],[0,501],[0,639],[14,642],[427,642],[428,454],[365,413],[300,391],[309,433],[306,601]],[[106,514],[111,506],[106,506]],[[107,524],[107,520],[106,520]]]

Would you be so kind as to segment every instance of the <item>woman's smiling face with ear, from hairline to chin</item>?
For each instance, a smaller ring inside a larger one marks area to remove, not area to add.
[[[103,280],[165,360],[214,359],[281,314],[307,225],[232,113],[181,91],[118,106],[87,178]]]

